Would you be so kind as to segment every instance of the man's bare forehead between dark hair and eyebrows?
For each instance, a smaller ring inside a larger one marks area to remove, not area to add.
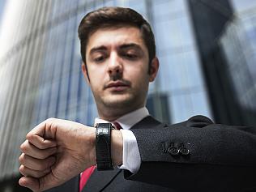
[[[116,47],[125,44],[137,44],[141,49],[147,50],[139,28],[126,26],[96,30],[88,39],[87,52],[94,47]]]

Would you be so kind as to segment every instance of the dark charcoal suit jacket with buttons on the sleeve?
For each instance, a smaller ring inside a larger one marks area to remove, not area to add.
[[[142,160],[138,173],[95,171],[83,192],[256,191],[253,127],[216,125],[203,116],[169,126],[145,117],[131,130]],[[173,154],[169,147],[186,148],[189,154]],[[77,192],[79,176],[48,191]]]

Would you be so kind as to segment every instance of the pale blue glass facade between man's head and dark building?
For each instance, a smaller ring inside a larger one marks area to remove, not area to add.
[[[151,14],[160,59],[151,91],[167,94],[171,122],[194,114],[211,117],[187,1],[152,1]]]

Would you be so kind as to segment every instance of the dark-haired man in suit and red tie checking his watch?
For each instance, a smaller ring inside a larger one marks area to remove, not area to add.
[[[33,191],[256,189],[254,128],[215,125],[203,116],[168,126],[148,115],[148,84],[159,62],[150,25],[141,15],[121,7],[92,11],[79,25],[79,38],[83,75],[99,113],[96,128],[54,118],[41,122],[21,145],[21,186]],[[122,129],[111,130],[109,122]],[[111,170],[112,164],[119,167]]]

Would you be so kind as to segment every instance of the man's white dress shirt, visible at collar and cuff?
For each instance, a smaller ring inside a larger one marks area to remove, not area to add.
[[[137,122],[140,122],[144,117],[149,115],[147,108],[143,107],[131,113],[119,117],[116,121],[122,126],[122,139],[123,139],[123,152],[122,152],[122,165],[118,166],[119,169],[129,170],[131,173],[136,173],[139,170],[141,159],[139,155],[139,147],[137,140],[130,130]],[[103,119],[96,117],[95,123],[107,122]],[[113,123],[113,122],[112,122]]]

